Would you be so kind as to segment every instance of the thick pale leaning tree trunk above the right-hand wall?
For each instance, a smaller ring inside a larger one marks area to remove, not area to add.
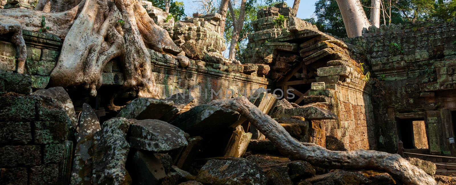
[[[359,0],[336,0],[342,14],[348,37],[361,36],[363,28],[369,28],[369,20]]]

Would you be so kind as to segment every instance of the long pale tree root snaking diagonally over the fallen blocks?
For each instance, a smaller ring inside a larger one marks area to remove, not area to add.
[[[261,131],[283,155],[305,160],[312,165],[330,169],[380,170],[388,172],[408,185],[434,185],[434,178],[411,165],[397,154],[375,150],[331,151],[313,143],[295,140],[269,115],[264,114],[244,96],[213,100],[210,105],[238,111]]]

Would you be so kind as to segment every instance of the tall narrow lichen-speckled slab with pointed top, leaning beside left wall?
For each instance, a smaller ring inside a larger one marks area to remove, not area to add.
[[[95,133],[100,131],[100,122],[90,105],[84,103],[79,119],[76,150],[74,153],[72,184],[91,184],[93,166],[93,142]]]

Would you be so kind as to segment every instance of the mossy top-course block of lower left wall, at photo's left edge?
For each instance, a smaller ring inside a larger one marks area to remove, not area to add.
[[[31,76],[19,73],[0,72],[0,94],[5,92],[30,95]]]

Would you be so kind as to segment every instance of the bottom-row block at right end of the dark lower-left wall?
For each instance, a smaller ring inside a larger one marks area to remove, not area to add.
[[[58,165],[47,164],[31,168],[29,181],[31,185],[57,184]]]

